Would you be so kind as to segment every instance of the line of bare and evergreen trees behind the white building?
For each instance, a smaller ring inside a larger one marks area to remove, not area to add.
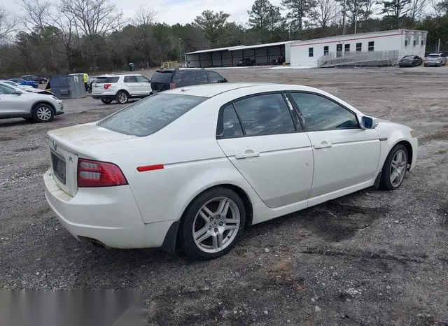
[[[110,0],[21,1],[20,16],[0,8],[3,78],[123,70],[130,62],[143,69],[207,48],[398,28],[427,30],[427,50],[439,38],[448,50],[448,0],[255,0],[247,26],[224,11],[169,25],[148,6],[125,19]]]

